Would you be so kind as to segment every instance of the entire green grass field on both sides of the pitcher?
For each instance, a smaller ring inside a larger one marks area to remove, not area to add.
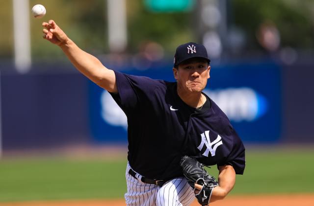
[[[250,149],[244,175],[231,195],[313,193],[314,152],[310,149]],[[0,160],[0,202],[123,198],[126,160],[56,158]],[[215,166],[209,172],[217,177]]]

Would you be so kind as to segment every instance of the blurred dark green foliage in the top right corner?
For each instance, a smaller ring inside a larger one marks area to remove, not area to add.
[[[260,49],[257,31],[262,23],[276,25],[281,46],[313,48],[313,0],[231,0],[230,24],[242,28],[247,37],[248,49]]]

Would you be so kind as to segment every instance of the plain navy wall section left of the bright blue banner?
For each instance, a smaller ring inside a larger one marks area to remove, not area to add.
[[[87,80],[78,73],[1,74],[4,150],[89,140]]]

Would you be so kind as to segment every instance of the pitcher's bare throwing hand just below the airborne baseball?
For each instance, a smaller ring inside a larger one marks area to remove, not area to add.
[[[62,29],[53,21],[49,20],[49,23],[43,22],[43,33],[44,39],[47,39],[52,44],[60,46],[65,43],[68,39],[67,35],[62,31]]]

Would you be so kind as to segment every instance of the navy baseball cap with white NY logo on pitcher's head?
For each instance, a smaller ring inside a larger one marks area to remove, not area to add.
[[[204,58],[210,62],[205,46],[193,42],[189,42],[177,47],[173,67],[177,67],[180,63],[194,57]]]

